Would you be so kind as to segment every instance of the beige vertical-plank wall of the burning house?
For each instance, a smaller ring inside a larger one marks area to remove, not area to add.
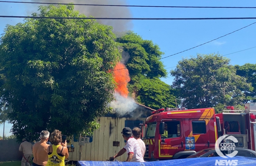
[[[114,117],[100,117],[98,122],[101,127],[94,131],[93,141],[91,143],[86,143],[82,148],[82,160],[86,161],[106,161],[109,157],[114,156],[122,148],[124,148],[125,142],[122,137],[122,129],[125,126],[125,120],[135,120],[132,118],[114,118]],[[139,118],[136,120],[141,120],[143,123],[146,118]],[[119,141],[120,146],[113,146],[113,141]],[[69,152],[69,160],[79,161],[79,148],[78,142],[70,141],[69,144],[73,144],[75,147],[75,152]],[[118,161],[125,161],[127,159],[127,154],[119,156],[116,158]]]

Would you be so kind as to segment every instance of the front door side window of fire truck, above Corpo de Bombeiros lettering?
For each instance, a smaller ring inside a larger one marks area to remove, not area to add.
[[[162,138],[175,138],[180,136],[180,121],[164,122]]]

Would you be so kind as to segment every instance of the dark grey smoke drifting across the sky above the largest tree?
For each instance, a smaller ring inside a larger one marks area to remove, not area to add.
[[[39,2],[41,0],[31,0],[33,2]],[[112,5],[127,5],[127,0],[44,0],[43,2],[51,3],[78,3],[78,4],[112,4]],[[33,4],[28,10],[29,14],[37,11],[39,4]],[[115,7],[115,6],[75,6],[75,10],[79,10],[80,13],[86,16],[92,15],[93,17],[132,17],[128,7]],[[97,20],[98,23],[110,25],[114,28],[114,31],[121,32],[131,30],[133,27],[131,20]]]

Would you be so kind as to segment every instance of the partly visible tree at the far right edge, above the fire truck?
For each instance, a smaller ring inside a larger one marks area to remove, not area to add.
[[[246,63],[242,66],[235,65],[236,74],[245,77],[247,83],[252,84],[252,88],[244,91],[246,95],[243,103],[256,102],[256,64]]]

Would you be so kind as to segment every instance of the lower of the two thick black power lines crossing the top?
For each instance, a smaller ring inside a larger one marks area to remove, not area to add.
[[[48,18],[48,19],[79,19],[79,20],[248,20],[256,17],[215,17],[215,18],[104,18],[104,17],[40,17],[40,16],[18,16],[0,15],[2,18]]]

